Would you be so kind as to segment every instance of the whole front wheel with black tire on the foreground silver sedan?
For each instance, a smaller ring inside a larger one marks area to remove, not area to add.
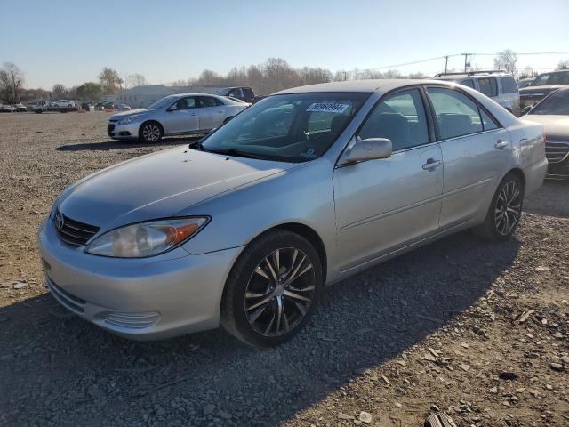
[[[277,279],[270,274],[271,262],[279,266]],[[221,326],[254,347],[286,342],[309,320],[323,286],[320,258],[307,239],[286,230],[268,232],[244,249],[229,273],[221,301]],[[310,301],[298,299],[299,295]]]

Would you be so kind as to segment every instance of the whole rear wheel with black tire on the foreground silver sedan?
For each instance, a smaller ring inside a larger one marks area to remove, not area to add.
[[[508,199],[508,197],[511,198]],[[522,216],[523,202],[523,182],[516,173],[508,173],[494,193],[485,222],[474,229],[475,234],[491,242],[509,240],[516,232],[517,224]]]

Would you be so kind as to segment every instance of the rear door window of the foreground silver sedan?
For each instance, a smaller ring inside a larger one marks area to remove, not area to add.
[[[427,93],[437,115],[441,140],[483,131],[477,103],[464,93],[441,87],[429,87]]]

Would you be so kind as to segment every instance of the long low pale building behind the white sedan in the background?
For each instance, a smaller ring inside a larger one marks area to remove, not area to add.
[[[145,108],[152,102],[158,101],[164,96],[175,93],[216,93],[224,87],[231,85],[192,85],[192,86],[164,86],[148,85],[126,89],[116,95],[116,101],[124,102],[132,108]]]

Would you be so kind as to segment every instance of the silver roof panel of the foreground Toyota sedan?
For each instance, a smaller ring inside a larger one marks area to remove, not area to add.
[[[399,87],[410,85],[452,85],[442,80],[418,79],[418,78],[385,78],[375,80],[350,80],[331,83],[319,83],[317,85],[306,85],[285,89],[275,94],[284,93],[326,93],[326,92],[351,92],[351,93],[373,93],[373,92],[389,92]]]

